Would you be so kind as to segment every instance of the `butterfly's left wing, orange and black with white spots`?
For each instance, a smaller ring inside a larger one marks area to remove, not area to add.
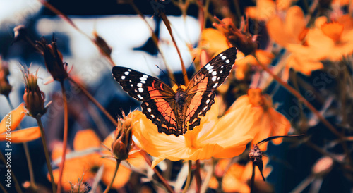
[[[157,125],[158,132],[181,135],[181,130],[177,130],[177,122],[180,120],[175,115],[177,104],[173,89],[155,77],[130,68],[114,66],[112,72],[124,91],[143,102],[142,111]]]

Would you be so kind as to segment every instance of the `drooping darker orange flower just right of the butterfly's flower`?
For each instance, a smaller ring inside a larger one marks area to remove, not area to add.
[[[234,111],[234,109],[251,113],[252,129],[256,132],[251,147],[267,137],[287,135],[290,129],[289,120],[272,107],[272,100],[261,94],[261,89],[249,89],[248,94],[239,97],[229,111]],[[282,138],[273,139],[272,142],[280,144]],[[265,151],[267,143],[261,144],[260,149]]]

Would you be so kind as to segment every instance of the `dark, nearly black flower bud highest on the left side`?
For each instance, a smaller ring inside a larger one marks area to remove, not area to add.
[[[64,81],[68,77],[67,63],[63,62],[63,55],[57,49],[56,39],[51,44],[47,44],[47,41],[42,37],[36,43],[37,48],[42,51],[45,66],[53,79],[60,82]]]

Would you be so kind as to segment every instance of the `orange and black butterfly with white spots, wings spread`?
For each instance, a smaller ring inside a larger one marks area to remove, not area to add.
[[[176,92],[156,77],[130,68],[114,66],[112,73],[131,97],[142,101],[143,113],[157,125],[158,132],[179,136],[200,125],[200,116],[215,103],[214,90],[228,77],[236,55],[234,47],[223,51]]]

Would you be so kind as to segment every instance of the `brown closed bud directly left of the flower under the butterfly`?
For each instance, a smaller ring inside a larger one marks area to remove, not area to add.
[[[126,117],[123,113],[123,118],[118,120],[118,127],[116,127],[112,142],[112,153],[117,159],[126,160],[133,147],[131,124],[131,118]]]

